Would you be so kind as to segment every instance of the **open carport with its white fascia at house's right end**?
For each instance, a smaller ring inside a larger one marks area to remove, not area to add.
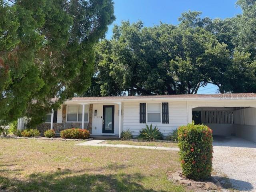
[[[255,94],[251,93],[201,95],[187,101],[188,122],[207,125],[213,135],[236,136],[256,142],[255,99]]]

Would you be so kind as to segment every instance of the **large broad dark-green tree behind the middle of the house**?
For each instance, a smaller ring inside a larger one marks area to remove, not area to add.
[[[218,78],[230,65],[226,44],[185,20],[181,18],[180,26],[115,26],[112,39],[96,46],[92,81],[97,89],[91,90],[97,95],[196,93],[211,77]]]

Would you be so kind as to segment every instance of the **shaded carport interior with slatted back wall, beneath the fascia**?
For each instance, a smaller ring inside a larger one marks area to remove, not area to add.
[[[256,108],[254,107],[196,107],[192,120],[212,129],[213,135],[234,135],[256,141]]]

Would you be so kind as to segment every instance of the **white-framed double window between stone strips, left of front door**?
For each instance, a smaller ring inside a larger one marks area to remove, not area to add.
[[[88,122],[89,106],[84,106],[84,122]],[[82,105],[68,105],[67,121],[68,122],[82,122],[83,106]]]

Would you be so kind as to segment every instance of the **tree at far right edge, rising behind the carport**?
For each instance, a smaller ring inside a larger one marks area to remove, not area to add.
[[[256,92],[256,0],[238,0],[242,14],[213,20],[212,32],[230,50],[232,65],[223,74],[222,89],[233,93]],[[220,81],[222,79],[219,79]],[[218,85],[218,82],[215,81]]]

